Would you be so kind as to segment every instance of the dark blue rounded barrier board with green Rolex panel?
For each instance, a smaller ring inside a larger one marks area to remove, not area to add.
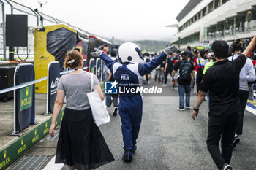
[[[14,85],[31,81],[34,81],[34,66],[31,63],[18,64],[14,74]],[[34,85],[14,91],[14,108],[13,134],[17,134],[34,124]]]

